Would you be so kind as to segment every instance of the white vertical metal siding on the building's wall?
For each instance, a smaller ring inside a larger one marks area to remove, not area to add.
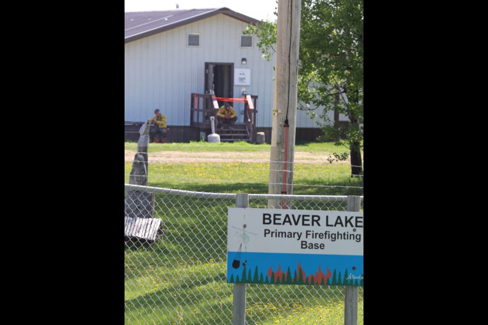
[[[240,36],[247,24],[225,15],[216,15],[176,27],[124,45],[124,118],[143,121],[159,108],[168,124],[190,125],[190,94],[204,93],[205,62],[234,63],[234,68],[251,69],[250,86],[234,86],[258,95],[257,126],[270,127],[273,106],[275,57],[262,58],[253,36],[253,48],[240,48]],[[187,47],[187,33],[200,33],[200,47]],[[241,64],[241,58],[247,64]],[[242,103],[234,108],[242,120]],[[321,110],[316,110],[320,114]],[[332,114],[333,117],[333,114]],[[317,127],[316,120],[297,111],[297,127]]]

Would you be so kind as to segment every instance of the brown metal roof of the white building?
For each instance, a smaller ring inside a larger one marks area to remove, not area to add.
[[[218,14],[224,14],[247,23],[259,22],[257,19],[239,14],[229,8],[125,12],[124,43],[129,43]]]

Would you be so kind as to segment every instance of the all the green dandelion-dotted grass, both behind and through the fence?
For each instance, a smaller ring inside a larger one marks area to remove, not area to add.
[[[135,150],[126,143],[126,150]],[[237,144],[151,144],[151,152],[215,151],[268,152],[269,145]],[[323,153],[331,144],[297,146],[297,151]],[[330,151],[329,151],[330,152]],[[326,163],[326,162],[325,162]],[[132,161],[125,161],[125,182],[129,182]],[[222,170],[231,171],[222,177]],[[362,186],[351,179],[347,165],[298,163],[295,166],[295,194],[362,194]],[[269,163],[228,161],[215,163],[186,161],[149,165],[150,186],[211,192],[266,193]],[[298,184],[316,186],[298,186]],[[226,282],[227,208],[230,199],[205,199],[174,194],[155,194],[156,217],[166,233],[153,244],[126,242],[126,324],[229,324],[232,322],[232,284]],[[303,203],[303,209],[342,209],[334,203]],[[266,207],[265,201],[250,202]],[[341,324],[344,323],[344,287],[308,285],[249,285],[246,320],[249,324]],[[359,323],[363,323],[363,288],[359,288]]]

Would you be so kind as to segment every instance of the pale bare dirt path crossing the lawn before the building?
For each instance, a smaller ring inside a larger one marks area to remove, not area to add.
[[[135,151],[124,151],[125,161],[134,159]],[[187,152],[187,151],[161,151],[150,152],[149,163],[214,163],[219,161],[242,161],[243,163],[269,161],[269,152]],[[296,163],[327,163],[328,154],[310,152],[295,152]]]

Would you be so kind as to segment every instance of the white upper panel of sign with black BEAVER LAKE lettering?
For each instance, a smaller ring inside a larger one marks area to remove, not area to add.
[[[227,249],[242,251],[363,255],[364,212],[229,208]]]

